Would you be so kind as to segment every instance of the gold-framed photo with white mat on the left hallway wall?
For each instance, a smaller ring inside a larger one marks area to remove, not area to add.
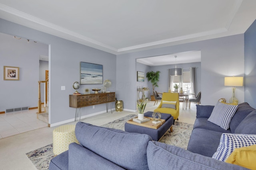
[[[4,80],[20,80],[20,68],[4,66]]]

